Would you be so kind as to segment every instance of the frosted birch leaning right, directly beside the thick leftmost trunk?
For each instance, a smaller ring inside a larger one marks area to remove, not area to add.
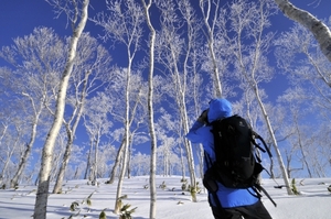
[[[113,77],[109,67],[110,55],[105,47],[98,44],[96,39],[89,36],[88,33],[83,33],[77,44],[77,51],[79,53],[74,62],[66,101],[67,107],[72,107],[72,113],[63,119],[67,133],[67,144],[54,185],[54,194],[62,191],[64,174],[70,162],[72,145],[83,114],[86,97],[107,85]]]

